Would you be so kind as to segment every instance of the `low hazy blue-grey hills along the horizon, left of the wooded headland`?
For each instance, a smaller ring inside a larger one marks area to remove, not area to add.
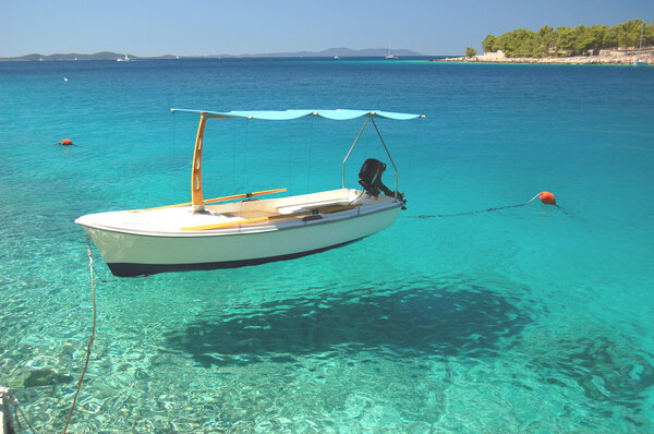
[[[415,52],[408,49],[397,49],[389,50],[388,48],[366,48],[362,50],[354,50],[351,48],[327,48],[323,51],[294,51],[294,52],[268,52],[268,53],[257,53],[257,55],[210,55],[210,56],[174,56],[174,55],[165,55],[165,56],[154,56],[154,57],[145,57],[145,56],[135,56],[131,53],[118,53],[111,51],[101,51],[93,55],[84,55],[72,52],[68,55],[26,55],[21,57],[13,58],[0,58],[0,61],[51,61],[51,60],[118,60],[124,59],[125,57],[129,60],[150,60],[150,59],[241,59],[241,58],[325,58],[325,57],[338,57],[338,58],[347,58],[347,57],[379,57],[384,58],[385,56],[393,55],[397,57],[422,57],[420,52]]]

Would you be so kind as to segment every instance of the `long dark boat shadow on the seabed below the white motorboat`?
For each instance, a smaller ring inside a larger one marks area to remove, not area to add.
[[[173,352],[205,366],[292,362],[325,351],[380,357],[493,357],[530,323],[523,309],[486,288],[419,288],[393,293],[359,290],[329,300],[292,299],[258,311],[198,320],[171,333]]]

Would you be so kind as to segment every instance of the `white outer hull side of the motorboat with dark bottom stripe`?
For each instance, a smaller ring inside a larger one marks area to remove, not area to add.
[[[400,206],[347,218],[301,220],[257,232],[149,236],[84,226],[116,276],[235,268],[292,260],[361,240],[390,226]]]

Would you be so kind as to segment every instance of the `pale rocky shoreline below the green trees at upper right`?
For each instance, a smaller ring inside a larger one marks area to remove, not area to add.
[[[639,59],[647,65],[654,65],[654,48],[642,50],[602,50],[595,56],[508,58],[504,52],[486,52],[482,56],[447,58],[437,62],[471,63],[538,63],[538,64],[633,64]]]

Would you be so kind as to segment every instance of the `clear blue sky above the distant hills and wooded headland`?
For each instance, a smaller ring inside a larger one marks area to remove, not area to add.
[[[654,20],[654,0],[0,0],[0,57],[481,50],[487,34]]]

